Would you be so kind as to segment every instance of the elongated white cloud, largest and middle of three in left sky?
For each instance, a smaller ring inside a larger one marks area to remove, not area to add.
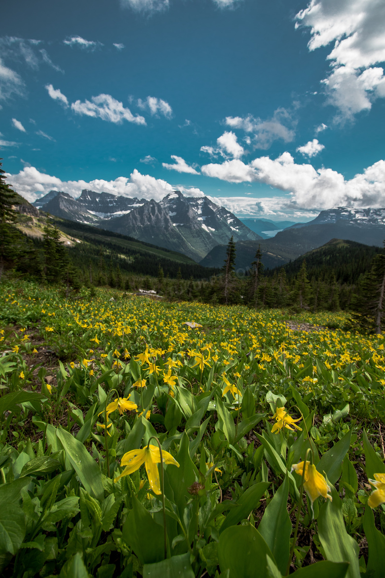
[[[77,114],[85,114],[94,118],[102,118],[110,123],[121,123],[127,120],[129,123],[146,124],[143,116],[134,116],[130,109],[124,108],[123,104],[109,94],[99,94],[98,97],[92,97],[92,102],[85,101],[73,102],[72,110]]]

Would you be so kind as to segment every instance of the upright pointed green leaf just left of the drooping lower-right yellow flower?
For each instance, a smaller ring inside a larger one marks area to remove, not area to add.
[[[287,513],[287,498],[289,497],[289,476],[275,492],[274,498],[268,504],[258,526],[260,535],[277,561],[282,574],[286,572],[289,561],[291,521]]]

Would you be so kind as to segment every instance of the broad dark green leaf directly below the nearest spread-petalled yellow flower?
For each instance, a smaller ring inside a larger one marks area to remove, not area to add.
[[[123,538],[133,549],[141,564],[154,564],[165,558],[163,527],[156,524],[151,514],[132,496],[132,510],[123,527]]]

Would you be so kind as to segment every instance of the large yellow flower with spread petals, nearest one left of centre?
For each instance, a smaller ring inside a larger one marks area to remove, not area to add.
[[[174,460],[168,451],[162,450],[162,458],[165,464],[173,464],[179,468],[178,462]],[[158,466],[156,465],[160,464],[160,451],[158,446],[145,446],[142,450],[131,450],[124,454],[120,465],[125,466],[125,468],[120,476],[115,477],[114,481],[118,481],[121,477],[136,472],[142,464],[145,464],[151,490],[154,494],[162,494],[160,490]]]

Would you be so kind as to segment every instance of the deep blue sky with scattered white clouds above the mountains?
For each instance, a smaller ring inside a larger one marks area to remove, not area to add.
[[[381,0],[14,0],[0,155],[28,200],[177,187],[238,216],[385,206]]]

